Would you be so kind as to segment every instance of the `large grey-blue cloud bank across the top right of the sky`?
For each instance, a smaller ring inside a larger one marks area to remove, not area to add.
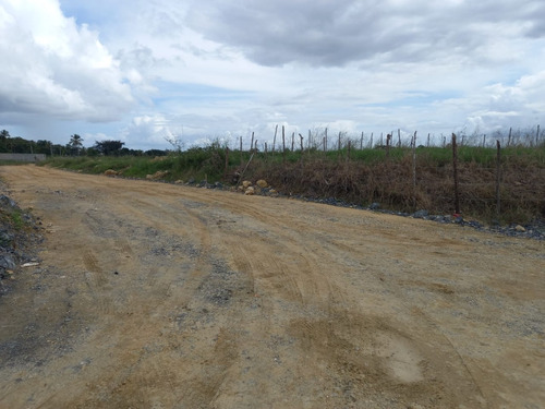
[[[543,23],[542,1],[227,0],[193,2],[187,24],[264,65],[344,67],[353,61],[484,62],[509,38]]]

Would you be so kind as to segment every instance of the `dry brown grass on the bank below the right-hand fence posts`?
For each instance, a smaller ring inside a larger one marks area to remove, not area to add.
[[[500,179],[500,214],[496,207],[496,169],[489,161],[458,165],[460,206],[464,215],[489,221],[524,222],[545,217],[545,166],[523,158],[504,160]],[[256,161],[247,175],[266,179],[283,192],[311,197],[335,197],[385,208],[434,214],[455,212],[452,164],[416,160],[413,183],[412,156],[382,161],[330,160],[306,157],[296,163]]]

